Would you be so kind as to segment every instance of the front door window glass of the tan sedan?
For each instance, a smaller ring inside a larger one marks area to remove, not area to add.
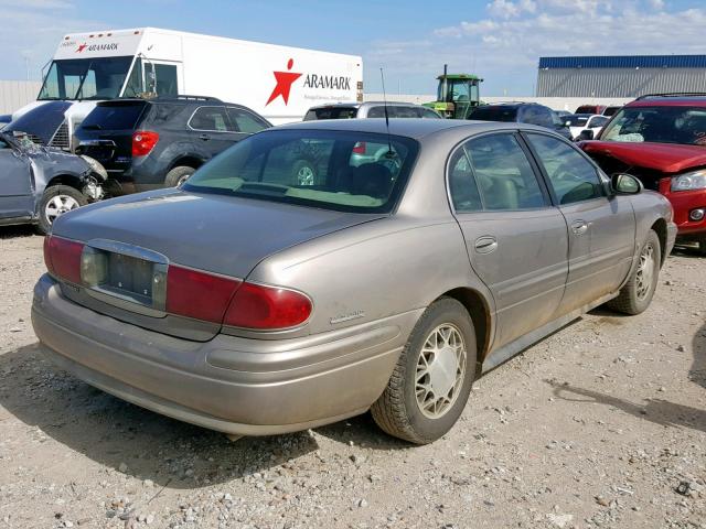
[[[596,168],[571,145],[544,134],[527,134],[559,204],[603,196]]]

